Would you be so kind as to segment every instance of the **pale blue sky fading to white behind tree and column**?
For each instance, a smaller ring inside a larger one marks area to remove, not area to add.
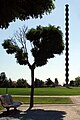
[[[65,5],[69,5],[69,80],[80,76],[80,0],[56,0],[55,9],[42,19],[16,20],[10,23],[7,29],[0,29],[0,73],[5,72],[7,78],[13,81],[24,78],[31,83],[31,71],[28,66],[21,66],[16,62],[14,55],[8,55],[2,47],[5,39],[13,37],[22,26],[28,29],[49,24],[60,26],[65,44]],[[30,59],[32,59],[30,57]],[[48,63],[35,69],[35,78],[46,81],[58,79],[60,84],[65,83],[65,50],[61,55],[49,59]]]

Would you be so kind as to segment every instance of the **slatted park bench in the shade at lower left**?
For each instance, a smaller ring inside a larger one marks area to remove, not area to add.
[[[10,108],[14,108],[16,110],[22,103],[21,102],[14,102],[12,96],[9,94],[1,95],[0,96],[1,105],[7,109],[7,113],[9,113]]]

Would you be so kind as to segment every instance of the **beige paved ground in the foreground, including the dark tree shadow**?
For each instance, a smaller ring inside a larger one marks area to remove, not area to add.
[[[18,111],[10,110],[9,116],[4,109],[0,120],[80,120],[80,96],[68,97],[74,104],[36,104],[31,110],[28,110],[29,105],[23,104]]]

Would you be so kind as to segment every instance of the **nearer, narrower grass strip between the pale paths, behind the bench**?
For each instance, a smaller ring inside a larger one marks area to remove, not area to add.
[[[14,101],[20,101],[26,104],[30,103],[29,97],[13,97]],[[34,97],[35,104],[71,104],[70,98],[66,97]]]

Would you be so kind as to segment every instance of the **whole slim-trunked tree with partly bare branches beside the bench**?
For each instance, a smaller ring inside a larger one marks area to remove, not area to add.
[[[26,34],[26,38],[25,38]],[[16,41],[17,40],[17,41]],[[29,62],[27,42],[31,44],[31,53],[34,58],[33,63]],[[18,44],[19,43],[19,44]],[[31,98],[30,108],[33,107],[34,95],[34,70],[36,67],[47,64],[48,59],[54,58],[55,54],[61,54],[64,50],[63,34],[59,27],[37,26],[26,33],[25,29],[20,29],[20,33],[15,39],[7,39],[2,44],[8,54],[15,54],[15,58],[20,65],[28,65],[31,70]]]

